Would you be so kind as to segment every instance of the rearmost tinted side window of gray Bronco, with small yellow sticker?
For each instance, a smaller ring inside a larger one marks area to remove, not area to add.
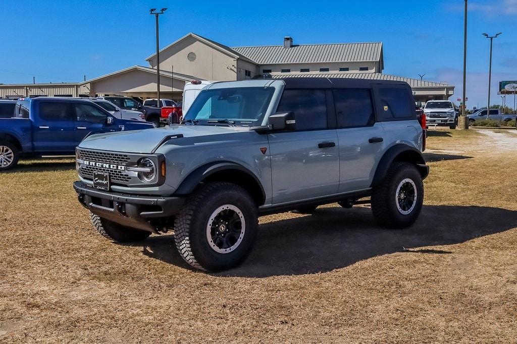
[[[406,88],[380,88],[379,95],[384,119],[413,117],[415,106]]]

